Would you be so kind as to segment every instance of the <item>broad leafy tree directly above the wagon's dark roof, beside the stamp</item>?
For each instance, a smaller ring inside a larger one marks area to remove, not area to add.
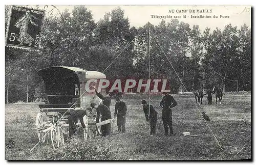
[[[87,52],[93,42],[96,25],[91,11],[84,6],[73,9],[73,17],[68,10],[61,17],[49,16],[44,31],[44,48],[50,54],[51,66],[79,66],[87,64]]]

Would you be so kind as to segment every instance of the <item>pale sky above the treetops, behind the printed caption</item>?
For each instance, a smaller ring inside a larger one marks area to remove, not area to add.
[[[74,5],[55,5],[56,8],[62,12],[65,9],[68,9],[69,12],[72,12]],[[167,18],[163,18],[166,22],[170,22],[170,20],[174,17],[179,21],[183,21],[188,23],[191,26],[193,24],[199,25],[200,29],[205,29],[206,27],[211,30],[216,29],[217,27],[220,29],[224,29],[226,24],[231,23],[233,26],[240,26],[246,23],[248,26],[251,26],[251,10],[250,6],[244,5],[119,5],[124,10],[124,16],[129,18],[130,25],[138,28],[139,26],[143,26],[148,21],[151,24],[158,25],[161,22],[162,18],[157,18],[156,16],[167,16]],[[28,6],[35,7],[35,6]],[[44,9],[44,5],[39,5],[39,9]],[[95,22],[99,19],[103,18],[105,13],[111,12],[112,9],[118,7],[113,5],[86,5],[86,7],[91,10],[93,18]],[[53,12],[53,14],[57,14],[58,10],[52,6],[48,6],[45,8],[46,13]],[[195,10],[195,13],[193,13]],[[203,11],[203,13],[197,12],[197,10]],[[174,11],[174,12],[172,12]],[[205,13],[205,12],[209,13]],[[183,12],[183,13],[182,13]],[[186,18],[183,16],[186,15]],[[191,18],[193,16],[211,16],[211,18]],[[214,18],[214,15],[218,16],[218,18]],[[229,18],[221,18],[222,16],[228,16]],[[155,18],[154,18],[155,16]],[[172,18],[168,18],[172,16]]]

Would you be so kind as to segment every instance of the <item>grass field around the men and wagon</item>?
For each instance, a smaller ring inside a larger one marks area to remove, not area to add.
[[[178,105],[173,108],[173,127],[175,135],[164,136],[162,112],[159,106],[161,95],[151,97],[151,104],[158,112],[157,134],[150,136],[141,106],[144,94],[127,94],[123,101],[127,104],[126,133],[117,133],[116,123],[113,132],[104,138],[95,138],[83,142],[74,140],[65,146],[53,150],[48,145],[38,145],[32,152],[30,149],[38,142],[33,129],[37,104],[6,104],[5,137],[14,141],[14,148],[6,147],[7,160],[48,160],[48,159],[99,159],[99,160],[241,160],[251,159],[251,93],[225,93],[222,105],[207,105],[207,97],[203,105],[198,106],[200,112],[205,111],[210,117],[209,126],[217,137],[222,149],[212,139],[209,128],[201,118],[198,109],[189,95],[173,95]],[[195,99],[192,95],[191,97]],[[111,111],[114,116],[112,100]],[[180,132],[203,137],[179,136]],[[77,148],[76,148],[77,147]],[[104,147],[104,148],[102,148]],[[100,154],[88,156],[90,153]],[[79,151],[87,150],[87,151]],[[103,155],[106,153],[107,156]],[[69,158],[68,158],[69,157]]]

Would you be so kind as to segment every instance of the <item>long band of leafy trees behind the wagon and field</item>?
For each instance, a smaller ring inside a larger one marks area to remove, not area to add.
[[[10,6],[5,8],[7,28]],[[148,79],[147,23],[131,27],[120,7],[98,22],[85,6],[60,14],[46,15],[39,50],[5,48],[6,102],[44,100],[36,72],[50,66],[104,71],[110,81]],[[172,19],[149,24],[149,29],[151,78],[167,79],[172,93],[214,85],[237,91],[237,80],[238,91],[251,90],[251,29],[246,24],[202,30]]]

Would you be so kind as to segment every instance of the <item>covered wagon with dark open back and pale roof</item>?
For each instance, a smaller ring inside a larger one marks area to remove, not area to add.
[[[101,103],[93,86],[98,88],[99,79],[105,75],[97,71],[88,71],[77,67],[48,67],[41,69],[38,75],[45,84],[45,103],[39,104],[40,113],[36,116],[36,130],[39,142],[44,143],[50,137],[54,148],[64,143],[64,134],[69,133],[68,117],[77,109],[86,111],[92,102]],[[95,79],[95,80],[94,80]],[[88,80],[91,81],[87,84]],[[104,93],[102,89],[102,93]],[[95,127],[96,110],[83,117],[86,128],[83,129],[84,139],[90,137],[91,130],[101,134],[100,127]],[[78,123],[78,126],[80,123]]]

